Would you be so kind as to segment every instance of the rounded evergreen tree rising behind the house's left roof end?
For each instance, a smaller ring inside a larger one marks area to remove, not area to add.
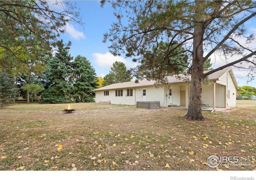
[[[111,71],[104,77],[102,86],[108,86],[110,84],[128,82],[132,80],[130,71],[127,70],[123,62],[114,62]]]

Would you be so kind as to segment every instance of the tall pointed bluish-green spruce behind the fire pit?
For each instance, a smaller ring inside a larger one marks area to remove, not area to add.
[[[68,42],[66,47],[63,40],[57,42],[58,50],[53,58],[48,62],[48,70],[46,78],[50,87],[46,89],[42,95],[42,103],[68,103],[72,90],[72,67],[73,59],[69,54],[71,42]],[[46,83],[47,84],[47,83]]]

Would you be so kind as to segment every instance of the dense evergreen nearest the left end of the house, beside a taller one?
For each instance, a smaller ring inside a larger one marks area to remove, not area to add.
[[[76,56],[72,63],[74,84],[72,96],[76,102],[94,102],[94,89],[98,86],[96,72],[89,60],[83,56]]]

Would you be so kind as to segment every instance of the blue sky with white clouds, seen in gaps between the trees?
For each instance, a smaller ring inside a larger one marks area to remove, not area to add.
[[[101,77],[109,73],[115,61],[124,62],[128,69],[134,68],[136,64],[131,59],[127,59],[125,56],[113,56],[108,50],[110,42],[102,42],[103,34],[108,32],[112,22],[116,21],[111,4],[106,3],[101,8],[99,0],[71,0],[70,2],[72,4],[76,3],[77,7],[80,8],[80,15],[84,23],[84,26],[75,23],[68,24],[66,26],[68,34],[60,36],[64,42],[69,40],[72,42],[70,47],[71,56],[74,58],[77,55],[86,57],[94,67],[97,76]],[[256,34],[255,22],[256,19],[254,19],[254,22],[250,21],[247,23],[248,33],[255,32]],[[256,41],[251,46],[256,47]],[[226,64],[226,60],[224,58],[221,59],[221,57],[212,56],[211,60],[213,68]],[[235,56],[234,60],[237,60],[237,56]],[[228,61],[230,62],[230,59]],[[238,86],[256,87],[256,80],[246,82],[247,72],[245,70],[238,70],[235,67],[232,67],[232,70],[234,71]]]

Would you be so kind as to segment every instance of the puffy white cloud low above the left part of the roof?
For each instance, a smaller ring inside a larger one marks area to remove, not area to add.
[[[111,68],[113,63],[123,62],[126,65],[126,68],[134,68],[136,67],[136,63],[129,62],[126,59],[120,57],[120,56],[114,56],[110,52],[106,52],[105,54],[102,53],[94,53],[92,54],[94,57],[94,60],[97,62],[98,66],[104,67],[104,68]]]

